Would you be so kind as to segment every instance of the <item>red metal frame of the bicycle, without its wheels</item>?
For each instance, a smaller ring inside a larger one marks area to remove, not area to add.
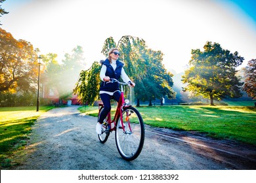
[[[111,111],[110,111],[108,113],[108,116],[107,116],[107,122],[108,122],[108,125],[110,125],[109,131],[115,131],[116,130],[116,125],[117,125],[117,119],[120,117],[121,127],[123,129],[123,132],[125,133],[125,127],[123,125],[123,114],[122,114],[122,112],[123,112],[123,108],[124,107],[129,107],[130,105],[126,105],[125,104],[125,97],[123,95],[123,84],[125,84],[125,83],[119,82],[119,84],[121,85],[121,96],[120,96],[119,101],[117,103],[117,108],[116,108],[115,116],[114,116],[113,120],[111,120]],[[100,111],[100,106],[102,108],[102,107],[104,107],[104,105],[103,104],[99,104],[99,107],[98,107],[99,111]],[[129,129],[131,131],[131,125],[129,123],[129,117],[127,116],[127,118],[125,120],[127,120],[128,127],[129,127]],[[111,125],[112,123],[114,123],[114,127],[112,127],[112,125]]]

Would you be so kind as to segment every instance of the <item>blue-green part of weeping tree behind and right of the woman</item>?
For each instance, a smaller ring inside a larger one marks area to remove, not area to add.
[[[102,53],[106,54],[112,47],[119,49],[119,59],[125,63],[125,72],[136,83],[137,106],[140,100],[149,101],[152,105],[153,99],[175,97],[176,93],[171,88],[173,75],[164,68],[161,51],[148,48],[143,39],[130,35],[121,37],[117,44],[112,37],[106,39]]]

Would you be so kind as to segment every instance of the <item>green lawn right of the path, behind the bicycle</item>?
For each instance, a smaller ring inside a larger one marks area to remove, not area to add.
[[[198,131],[216,139],[256,145],[256,107],[176,105],[137,109],[144,123],[154,127]],[[81,107],[80,110],[96,116],[98,107]]]

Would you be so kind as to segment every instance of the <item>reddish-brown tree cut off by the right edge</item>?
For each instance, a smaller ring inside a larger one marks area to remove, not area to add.
[[[243,90],[256,99],[256,59],[248,61],[245,67],[245,84]]]

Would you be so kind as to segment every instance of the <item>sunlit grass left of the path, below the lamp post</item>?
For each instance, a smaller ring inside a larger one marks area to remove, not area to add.
[[[35,120],[53,107],[0,107],[0,163],[11,166],[10,157],[24,148]]]

